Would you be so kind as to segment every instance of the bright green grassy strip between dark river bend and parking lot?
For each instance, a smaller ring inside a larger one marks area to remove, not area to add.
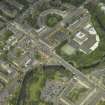
[[[45,78],[42,69],[35,69],[28,72],[23,80],[16,105],[39,105],[41,102],[40,92],[44,86]]]

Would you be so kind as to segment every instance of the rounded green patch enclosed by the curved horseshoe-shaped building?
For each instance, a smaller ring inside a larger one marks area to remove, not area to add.
[[[57,14],[48,14],[46,18],[46,24],[48,27],[54,27],[61,20],[62,17]]]

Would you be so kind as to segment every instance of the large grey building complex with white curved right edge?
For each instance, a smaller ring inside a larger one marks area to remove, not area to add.
[[[83,53],[89,54],[98,47],[99,41],[99,36],[94,27],[92,27],[91,24],[88,24],[83,30],[76,33],[69,44]]]

